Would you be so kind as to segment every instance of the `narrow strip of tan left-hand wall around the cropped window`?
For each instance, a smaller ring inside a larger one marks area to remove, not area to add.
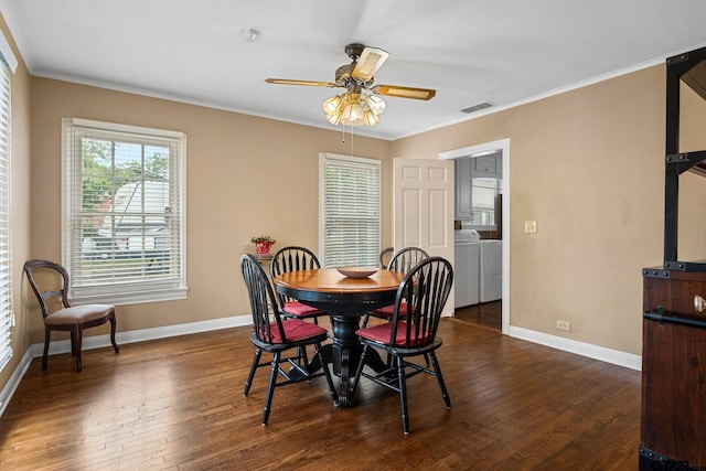
[[[11,342],[13,356],[0,372],[0,390],[18,367],[24,352],[30,346],[29,313],[25,302],[25,285],[22,266],[30,255],[30,82],[31,77],[20,56],[14,41],[0,17],[0,29],[10,43],[19,61],[17,72],[10,76],[12,100],[12,147],[11,147],[11,204],[10,225],[12,229],[12,312],[15,325]]]

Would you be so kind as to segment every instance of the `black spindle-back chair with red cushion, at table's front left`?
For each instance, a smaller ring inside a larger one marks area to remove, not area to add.
[[[240,267],[250,300],[250,311],[253,313],[250,342],[255,345],[255,356],[245,381],[243,395],[248,395],[258,367],[268,365],[271,367],[263,409],[263,425],[267,425],[275,388],[288,384],[325,376],[333,404],[338,406],[339,396],[333,387],[331,373],[321,349],[321,342],[328,339],[327,330],[301,319],[282,319],[278,309],[278,300],[263,266],[253,255],[246,254],[240,257]],[[323,366],[319,372],[309,372],[306,364],[301,362],[301,352],[306,351],[308,345],[314,346],[319,362]],[[282,356],[289,351],[297,353]],[[272,355],[271,362],[260,363],[263,352]],[[280,366],[282,363],[289,364],[291,370],[286,372]],[[284,378],[282,381],[278,381],[280,376]]]

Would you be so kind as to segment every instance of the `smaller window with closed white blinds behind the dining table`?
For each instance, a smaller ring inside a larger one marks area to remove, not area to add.
[[[379,161],[319,157],[319,259],[324,267],[377,266]]]

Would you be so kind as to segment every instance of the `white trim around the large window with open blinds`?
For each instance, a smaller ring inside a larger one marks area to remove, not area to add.
[[[179,141],[179,163],[174,181],[179,182],[179,260],[180,275],[176,281],[153,280],[141,281],[139,283],[129,283],[130,287],[139,285],[141,289],[126,289],[116,291],[114,285],[97,285],[94,287],[83,288],[81,292],[76,292],[74,287],[69,287],[68,298],[72,303],[110,303],[110,304],[139,304],[146,302],[159,302],[186,299],[189,291],[186,285],[186,135],[180,131],[147,128],[132,125],[124,125],[116,122],[96,121],[83,118],[62,118],[62,264],[68,272],[72,270],[72,239],[69,237],[71,224],[73,221],[73,205],[75,186],[72,178],[77,162],[71,150],[73,142],[67,142],[68,127],[93,128],[98,131],[125,132],[152,136],[157,138],[175,139]]]

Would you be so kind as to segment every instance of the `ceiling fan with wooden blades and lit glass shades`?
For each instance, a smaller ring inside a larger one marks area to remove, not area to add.
[[[398,98],[431,99],[436,90],[430,88],[403,87],[398,85],[373,85],[374,75],[389,54],[378,47],[367,47],[352,43],[345,46],[351,63],[336,68],[335,82],[296,81],[288,78],[266,78],[268,84],[307,85],[314,87],[341,87],[346,92],[323,103],[327,120],[332,125],[375,126],[379,114],[385,110],[385,101],[376,95]],[[365,93],[368,92],[368,93]]]

